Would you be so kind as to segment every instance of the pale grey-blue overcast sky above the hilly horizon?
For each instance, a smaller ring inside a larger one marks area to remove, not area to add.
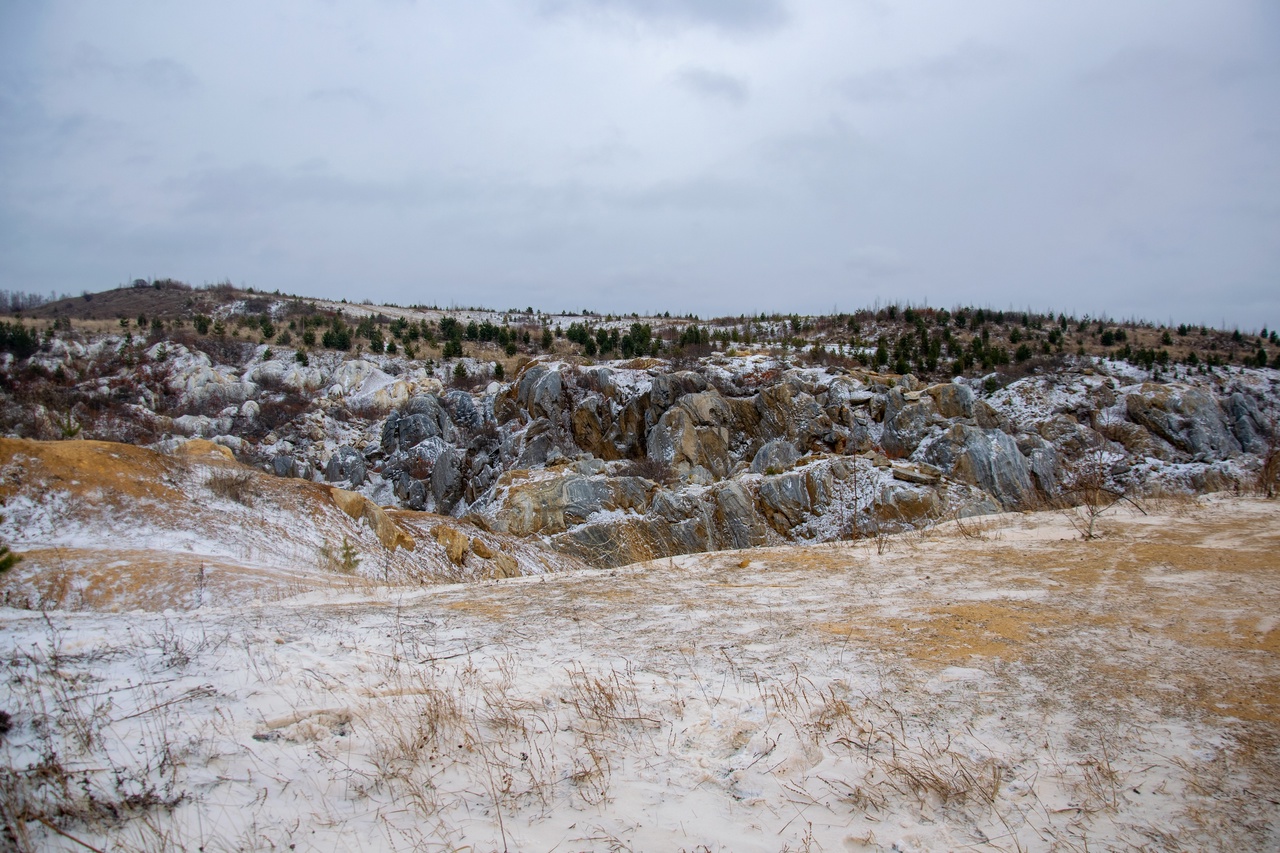
[[[0,288],[1280,324],[1275,0],[0,3]]]

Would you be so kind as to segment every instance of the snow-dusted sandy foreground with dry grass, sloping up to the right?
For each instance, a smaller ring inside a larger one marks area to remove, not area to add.
[[[1280,845],[1280,503],[0,610],[0,847]]]

